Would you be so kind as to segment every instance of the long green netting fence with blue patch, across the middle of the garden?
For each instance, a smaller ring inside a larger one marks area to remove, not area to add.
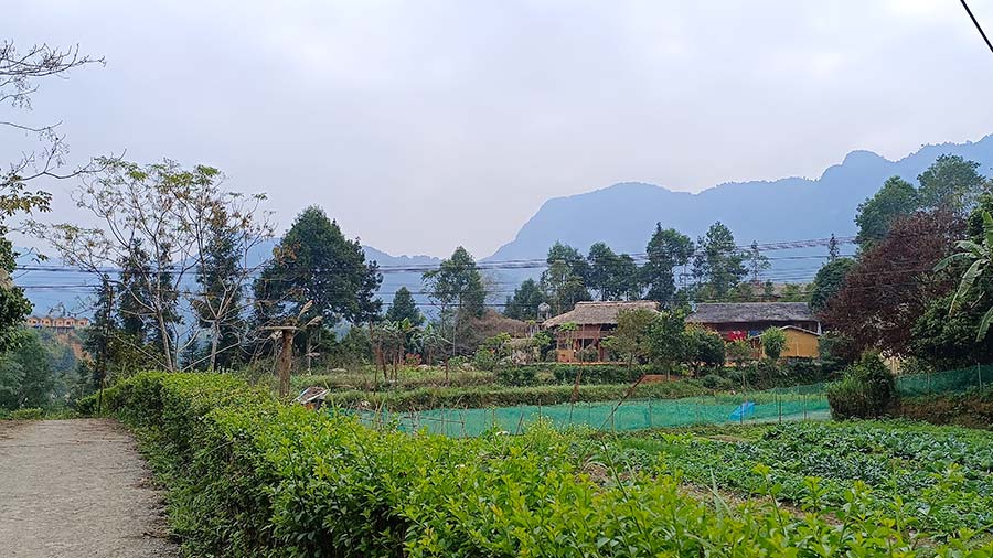
[[[743,404],[751,405],[743,409]],[[740,412],[743,410],[744,412]],[[822,417],[826,411],[828,399],[822,396],[756,394],[756,397],[634,399],[621,404],[604,401],[553,406],[519,405],[489,409],[353,412],[370,425],[394,425],[404,431],[427,429],[435,433],[466,437],[479,436],[492,428],[516,433],[537,420],[547,420],[560,428],[586,426],[619,431],[690,425],[798,420]]]

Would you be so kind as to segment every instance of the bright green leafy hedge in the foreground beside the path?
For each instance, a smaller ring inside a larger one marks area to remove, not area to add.
[[[672,477],[577,455],[575,434],[542,427],[468,440],[377,431],[207,374],[143,374],[105,395],[167,483],[193,556],[918,552],[858,498],[830,522],[760,502],[715,507]]]

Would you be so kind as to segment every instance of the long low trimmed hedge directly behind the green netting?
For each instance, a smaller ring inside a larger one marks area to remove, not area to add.
[[[631,389],[629,384],[579,386],[576,399],[579,401],[613,401],[621,399]],[[332,406],[385,407],[389,410],[408,411],[450,408],[512,407],[514,405],[559,405],[573,400],[574,386],[552,385],[531,387],[467,387],[431,388],[393,391],[340,391],[329,394],[327,401]],[[709,393],[696,380],[660,382],[642,384],[631,397],[677,399]]]

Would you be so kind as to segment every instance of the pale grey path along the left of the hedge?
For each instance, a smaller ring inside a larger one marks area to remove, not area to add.
[[[160,495],[122,427],[0,421],[0,556],[175,555]]]

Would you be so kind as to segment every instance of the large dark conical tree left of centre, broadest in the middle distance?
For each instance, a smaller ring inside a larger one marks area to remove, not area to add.
[[[357,239],[350,240],[338,223],[316,205],[305,208],[279,244],[273,259],[255,280],[255,320],[276,325],[298,315],[307,322],[320,316],[320,326],[303,331],[305,353],[311,354],[324,328],[374,320],[382,301],[375,298],[383,281],[375,261],[366,261]]]

